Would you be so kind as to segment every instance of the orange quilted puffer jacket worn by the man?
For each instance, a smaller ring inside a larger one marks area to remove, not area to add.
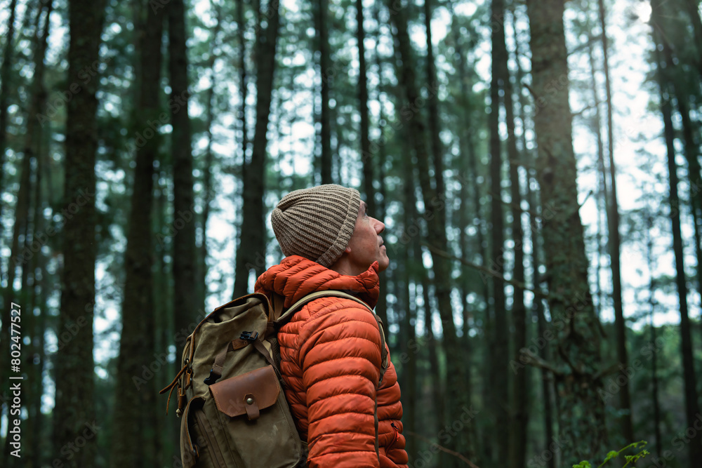
[[[285,297],[284,307],[319,290],[344,290],[371,307],[378,302],[378,262],[345,276],[298,255],[258,277],[256,292]],[[296,312],[278,333],[285,396],[310,468],[378,467],[373,396],[380,377],[380,334],[368,309],[342,297],[321,297]],[[402,403],[395,366],[377,390],[380,468],[406,467]]]

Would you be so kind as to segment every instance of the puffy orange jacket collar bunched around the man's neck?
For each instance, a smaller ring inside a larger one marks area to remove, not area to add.
[[[378,262],[373,262],[362,274],[349,276],[300,255],[291,255],[258,276],[254,290],[267,295],[269,299],[273,293],[284,296],[283,307],[290,307],[305,295],[317,291],[343,290],[373,308],[380,293]]]

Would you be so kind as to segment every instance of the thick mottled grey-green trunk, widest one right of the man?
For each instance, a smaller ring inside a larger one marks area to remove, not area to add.
[[[576,160],[568,103],[564,4],[527,0],[537,113],[537,172],[541,186],[548,305],[559,349],[559,441],[562,464],[598,457],[607,446],[600,397],[600,333],[588,285],[583,225],[578,213]],[[546,340],[548,342],[548,340]]]

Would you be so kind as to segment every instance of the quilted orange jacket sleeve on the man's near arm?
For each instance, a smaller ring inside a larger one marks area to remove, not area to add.
[[[378,467],[375,448],[380,334],[352,300],[327,300],[300,330],[310,468]]]

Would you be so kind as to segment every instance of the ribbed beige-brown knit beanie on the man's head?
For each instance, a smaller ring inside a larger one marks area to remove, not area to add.
[[[270,221],[286,257],[301,255],[329,268],[348,245],[360,206],[358,190],[319,185],[284,196]]]

